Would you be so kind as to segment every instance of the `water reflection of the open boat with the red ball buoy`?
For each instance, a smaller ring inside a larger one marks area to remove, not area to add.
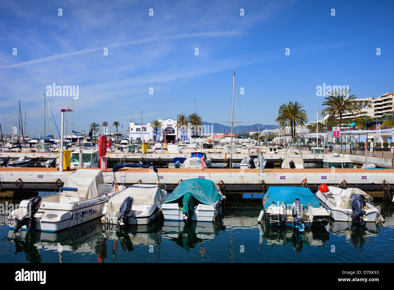
[[[365,223],[360,226],[346,221],[331,221],[326,228],[332,234],[345,236],[356,248],[362,247],[364,241],[368,242],[368,239],[377,236],[381,230],[377,223]]]

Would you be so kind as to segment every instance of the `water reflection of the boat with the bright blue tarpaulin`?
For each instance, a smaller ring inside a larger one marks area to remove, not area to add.
[[[296,228],[270,226],[264,218],[258,223],[260,230],[260,244],[267,245],[293,245],[296,252],[301,252],[304,245],[322,247],[329,240],[329,233],[324,226],[310,227],[309,230],[299,232]]]

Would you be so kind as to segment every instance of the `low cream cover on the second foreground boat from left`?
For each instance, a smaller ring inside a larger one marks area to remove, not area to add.
[[[156,201],[162,204],[168,195],[167,192],[162,191],[156,184],[134,184],[110,198],[108,201],[108,211],[112,214],[119,210],[123,201],[128,196],[133,198],[133,204],[150,204]]]

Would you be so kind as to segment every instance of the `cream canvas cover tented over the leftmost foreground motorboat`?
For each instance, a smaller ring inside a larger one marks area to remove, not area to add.
[[[63,191],[63,196],[80,196],[84,200],[102,195],[99,193],[98,185],[104,183],[101,170],[77,169],[66,179],[64,187],[75,187],[78,191]]]

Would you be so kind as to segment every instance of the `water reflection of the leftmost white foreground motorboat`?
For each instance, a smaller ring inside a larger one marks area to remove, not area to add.
[[[60,232],[19,231],[8,232],[8,241],[15,243],[15,254],[26,253],[26,260],[41,262],[40,249],[59,252],[59,262],[63,262],[64,251],[71,253],[98,254],[98,260],[106,258],[105,238],[102,235],[100,219],[95,219]]]

